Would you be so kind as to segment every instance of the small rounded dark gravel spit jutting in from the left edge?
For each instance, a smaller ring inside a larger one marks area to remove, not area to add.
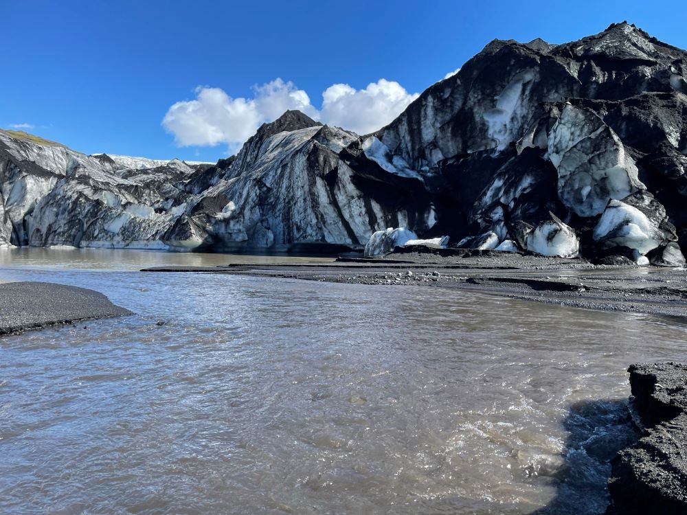
[[[129,314],[133,313],[86,288],[48,282],[0,284],[0,337]]]

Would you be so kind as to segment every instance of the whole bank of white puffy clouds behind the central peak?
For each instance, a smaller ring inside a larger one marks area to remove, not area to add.
[[[253,98],[232,98],[213,87],[197,87],[195,94],[194,100],[170,106],[162,126],[174,135],[178,146],[227,144],[229,152],[238,150],[260,124],[273,121],[288,109],[365,134],[391,122],[418,97],[398,82],[385,79],[359,90],[348,84],[333,84],[322,93],[322,110],[311,104],[304,90],[280,78],[254,87]]]

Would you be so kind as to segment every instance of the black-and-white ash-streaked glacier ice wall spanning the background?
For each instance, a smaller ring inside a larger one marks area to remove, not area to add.
[[[287,111],[215,165],[0,132],[0,244],[319,252],[405,227],[682,266],[686,172],[687,52],[623,22],[492,41],[371,135]]]

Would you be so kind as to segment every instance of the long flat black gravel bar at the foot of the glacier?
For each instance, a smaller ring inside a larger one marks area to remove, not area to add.
[[[594,265],[578,259],[506,254],[412,252],[339,258],[332,263],[155,266],[142,271],[465,289],[574,308],[687,317],[685,268]]]

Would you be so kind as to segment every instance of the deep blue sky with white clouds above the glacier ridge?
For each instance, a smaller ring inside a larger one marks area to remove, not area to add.
[[[563,43],[624,19],[687,48],[685,1],[0,0],[0,127],[215,161],[284,106],[364,132],[493,38]]]

